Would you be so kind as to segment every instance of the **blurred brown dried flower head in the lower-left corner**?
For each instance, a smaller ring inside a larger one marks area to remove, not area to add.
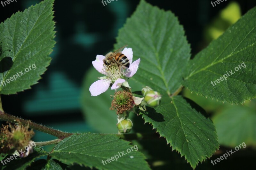
[[[28,125],[23,126],[20,123],[12,125],[2,125],[0,136],[0,152],[12,153],[15,150],[23,149],[34,136],[34,131],[29,130]]]

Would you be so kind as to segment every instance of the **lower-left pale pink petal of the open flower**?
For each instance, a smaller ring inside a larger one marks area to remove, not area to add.
[[[111,79],[98,80],[92,83],[89,90],[92,96],[98,96],[108,90]]]

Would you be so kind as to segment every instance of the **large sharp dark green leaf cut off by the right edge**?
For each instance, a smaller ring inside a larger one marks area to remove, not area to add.
[[[230,103],[242,103],[254,98],[256,96],[254,18],[256,18],[256,7],[198,53],[189,62],[189,73],[183,85],[197,94]],[[229,71],[234,74],[231,75]],[[227,80],[219,80],[218,83],[217,79],[224,74],[227,75],[225,76]]]

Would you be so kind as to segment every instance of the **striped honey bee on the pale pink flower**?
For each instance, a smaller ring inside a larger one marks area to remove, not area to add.
[[[127,46],[128,45],[121,47],[114,52],[109,52],[108,54],[106,54],[105,59],[103,60],[104,64],[107,66],[110,66],[111,64],[117,64],[119,67],[123,66],[125,68],[129,68],[129,59],[121,51],[121,49]]]

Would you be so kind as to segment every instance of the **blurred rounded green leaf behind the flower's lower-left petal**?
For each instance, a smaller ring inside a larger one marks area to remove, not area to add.
[[[93,129],[100,133],[117,133],[117,115],[115,111],[109,110],[112,101],[110,95],[114,95],[115,91],[109,88],[107,92],[104,92],[99,96],[91,96],[89,92],[90,85],[97,81],[98,77],[102,77],[102,74],[93,67],[87,71],[84,77],[81,105],[85,119]],[[133,91],[141,91],[143,87],[131,80],[129,80],[129,84],[132,86]],[[130,118],[133,116],[134,114],[130,114]]]

